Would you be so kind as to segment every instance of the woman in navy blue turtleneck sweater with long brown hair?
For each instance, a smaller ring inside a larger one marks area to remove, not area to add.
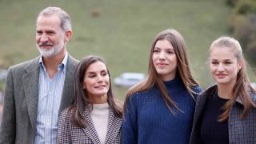
[[[122,143],[187,144],[200,91],[182,35],[162,31],[152,44],[146,78],[127,91]]]

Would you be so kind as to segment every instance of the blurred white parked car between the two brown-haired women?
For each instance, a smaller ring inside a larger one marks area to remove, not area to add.
[[[122,73],[117,78],[114,78],[114,85],[130,87],[141,82],[143,78],[145,78],[145,74],[142,73]]]

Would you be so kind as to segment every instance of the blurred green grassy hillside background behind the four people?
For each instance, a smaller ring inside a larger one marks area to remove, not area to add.
[[[222,35],[241,42],[251,66],[250,81],[255,82],[255,0],[0,0],[0,95],[9,66],[39,55],[35,21],[46,6],[59,6],[70,14],[74,34],[69,53],[77,59],[88,54],[106,58],[112,82],[124,72],[146,74],[153,39],[167,28],[185,38],[194,77],[203,88],[214,83],[208,50]],[[126,90],[114,86],[120,100]]]

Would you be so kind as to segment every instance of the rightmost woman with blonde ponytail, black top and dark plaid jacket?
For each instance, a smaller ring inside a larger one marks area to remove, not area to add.
[[[190,143],[256,143],[256,90],[237,40],[221,37],[211,44],[210,74],[217,85],[197,98]]]

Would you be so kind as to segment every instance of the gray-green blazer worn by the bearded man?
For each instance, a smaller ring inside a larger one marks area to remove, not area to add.
[[[6,78],[0,143],[34,143],[38,112],[39,57],[11,66]],[[67,60],[66,78],[59,110],[74,101],[74,70],[78,61]]]

